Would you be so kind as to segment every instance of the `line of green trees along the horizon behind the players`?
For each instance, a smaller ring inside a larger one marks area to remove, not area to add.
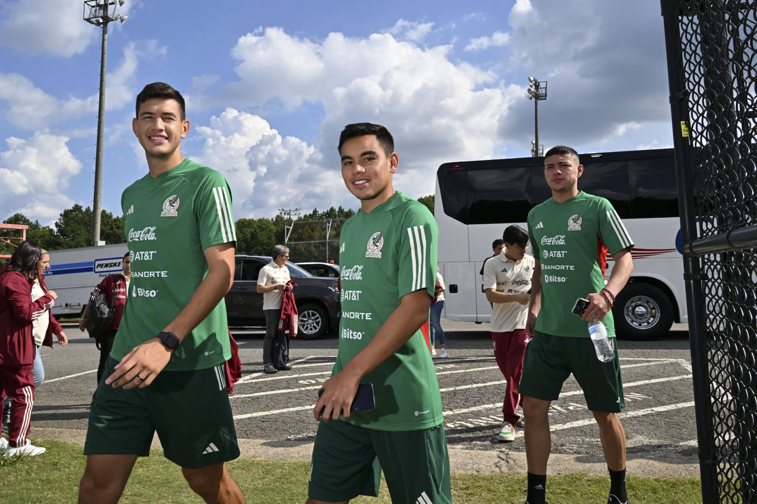
[[[434,213],[434,195],[418,198],[422,204]],[[343,207],[331,207],[329,210],[313,208],[310,213],[298,216],[294,220],[294,227],[289,234],[289,241],[318,242],[326,241],[326,223],[318,221],[332,221],[329,232],[329,241],[339,240],[341,223],[354,216],[355,210]],[[42,226],[39,220],[32,222],[23,213],[14,213],[3,221],[8,224],[21,224],[29,226],[26,230],[26,238],[36,241],[40,247],[46,250],[60,250],[64,248],[88,247],[92,243],[92,208],[74,204],[58,216],[54,226]],[[306,224],[313,222],[313,224]],[[276,244],[283,244],[287,226],[292,221],[284,216],[260,217],[259,219],[237,219],[237,254],[249,254],[254,256],[267,256]],[[100,214],[100,239],[106,244],[123,243],[125,219],[123,216],[114,216],[107,210]],[[20,238],[20,231],[5,230],[2,236]],[[13,241],[18,244],[17,240]],[[13,254],[14,247],[0,241],[0,254]]]

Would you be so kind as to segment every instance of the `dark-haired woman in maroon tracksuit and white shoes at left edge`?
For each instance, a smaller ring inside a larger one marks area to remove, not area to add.
[[[32,372],[37,348],[33,336],[33,320],[55,304],[58,294],[47,291],[32,299],[32,286],[39,278],[42,249],[31,240],[22,241],[11,260],[0,270],[0,390],[11,397],[11,425],[5,456],[27,456],[44,453],[33,446],[29,435],[34,406],[34,375]]]

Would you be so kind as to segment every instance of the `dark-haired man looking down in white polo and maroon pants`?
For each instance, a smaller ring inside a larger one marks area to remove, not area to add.
[[[520,226],[508,226],[502,236],[505,242],[500,255],[486,262],[484,291],[493,303],[491,312],[491,341],[497,366],[507,380],[502,405],[503,422],[498,441],[514,441],[515,425],[520,420],[516,408],[520,403],[518,384],[523,373],[523,355],[528,344],[525,322],[528,301],[531,299],[531,275],[534,257],[528,250],[528,232]]]

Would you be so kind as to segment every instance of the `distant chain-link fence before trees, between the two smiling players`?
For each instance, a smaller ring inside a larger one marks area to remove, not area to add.
[[[339,263],[339,235],[346,219],[294,221],[286,246],[294,263]]]

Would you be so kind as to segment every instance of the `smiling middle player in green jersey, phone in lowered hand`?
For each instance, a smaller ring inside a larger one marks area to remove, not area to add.
[[[339,350],[313,410],[321,422],[307,502],[378,496],[382,468],[392,502],[452,502],[441,394],[419,330],[436,286],[436,222],[394,191],[399,157],[384,126],[347,125],[338,150],[362,208],[341,229]],[[350,415],[368,382],[375,409]]]

